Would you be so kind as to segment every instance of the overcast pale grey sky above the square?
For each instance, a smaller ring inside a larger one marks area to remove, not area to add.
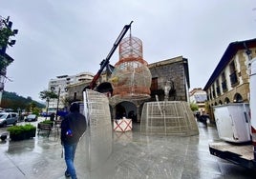
[[[0,15],[19,30],[5,90],[38,101],[58,75],[96,73],[131,21],[145,61],[188,59],[190,90],[204,87],[229,43],[256,38],[256,0],[0,0]]]

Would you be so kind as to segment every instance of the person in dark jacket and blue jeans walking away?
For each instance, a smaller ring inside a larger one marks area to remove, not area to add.
[[[87,128],[86,118],[79,113],[79,104],[73,103],[70,107],[70,113],[64,117],[60,125],[61,128],[61,145],[64,148],[64,157],[67,169],[65,176],[76,179],[75,173],[75,149],[80,137]]]

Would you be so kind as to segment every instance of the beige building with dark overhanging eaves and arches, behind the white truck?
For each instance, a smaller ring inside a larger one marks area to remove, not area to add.
[[[256,56],[256,39],[232,42],[211,74],[203,90],[206,110],[213,121],[212,107],[249,102],[249,61]]]

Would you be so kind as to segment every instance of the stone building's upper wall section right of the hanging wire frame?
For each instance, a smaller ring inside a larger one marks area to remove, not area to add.
[[[188,62],[186,58],[178,56],[163,60],[148,66],[152,75],[151,101],[164,99],[164,89],[169,88],[170,101],[189,101],[190,88]]]

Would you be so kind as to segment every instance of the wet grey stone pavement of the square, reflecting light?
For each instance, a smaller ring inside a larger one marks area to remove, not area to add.
[[[36,125],[37,122],[31,124]],[[211,155],[208,143],[219,139],[217,130],[214,126],[205,127],[203,123],[198,123],[198,126],[200,134],[190,137],[146,136],[139,133],[139,124],[133,124],[132,131],[114,131],[110,154],[102,160],[101,153],[94,153],[101,161],[96,168],[91,168],[88,163],[90,156],[86,156],[85,148],[89,144],[85,133],[75,155],[77,176],[79,179],[256,178],[256,171]],[[0,129],[0,133],[4,131],[6,128]],[[18,142],[8,138],[0,143],[0,178],[65,179],[61,153],[56,131],[49,138],[44,133]]]

